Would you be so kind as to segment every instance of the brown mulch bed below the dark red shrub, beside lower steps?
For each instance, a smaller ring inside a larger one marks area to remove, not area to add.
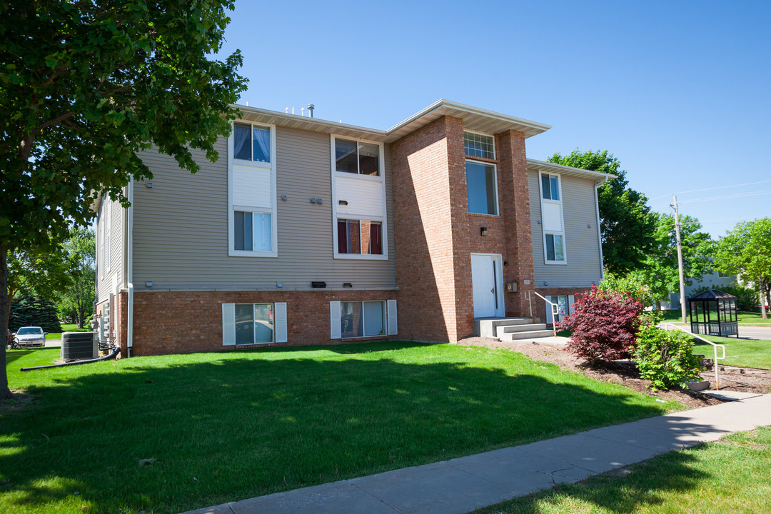
[[[611,362],[604,368],[589,368],[584,359],[576,357],[564,344],[537,343],[534,341],[498,341],[493,338],[466,338],[458,344],[467,346],[484,346],[487,348],[505,348],[527,355],[535,361],[555,364],[563,369],[583,373],[589,378],[606,382],[614,382],[625,387],[640,391],[655,398],[674,399],[691,408],[706,407],[722,403],[717,398],[701,392],[688,389],[672,389],[671,391],[653,391],[648,386],[651,381],[643,380],[634,363],[626,361]],[[771,391],[771,371],[754,368],[734,368],[719,365],[720,388],[728,391],[744,391],[767,393]],[[742,372],[743,371],[743,372]],[[704,380],[712,382],[715,387],[715,370],[709,369],[702,373]]]

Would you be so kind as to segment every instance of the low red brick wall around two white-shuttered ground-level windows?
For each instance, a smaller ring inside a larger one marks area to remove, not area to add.
[[[135,292],[133,355],[180,354],[304,344],[372,341],[379,338],[331,340],[330,301],[393,300],[397,291],[190,291]],[[287,303],[288,342],[281,344],[222,345],[224,303]],[[399,304],[399,317],[402,306]],[[399,319],[401,332],[401,319]],[[402,335],[392,339],[404,339]]]

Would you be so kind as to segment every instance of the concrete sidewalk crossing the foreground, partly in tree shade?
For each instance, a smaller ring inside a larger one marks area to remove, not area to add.
[[[766,425],[771,425],[771,395],[757,395],[188,514],[460,514]]]

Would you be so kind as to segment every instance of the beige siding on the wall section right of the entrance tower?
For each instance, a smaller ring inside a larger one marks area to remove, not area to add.
[[[545,264],[544,230],[542,223],[538,223],[538,220],[544,221],[538,180],[538,172],[528,170],[535,287],[589,287],[593,282],[598,284],[602,276],[594,181],[575,176],[560,177],[567,264]]]

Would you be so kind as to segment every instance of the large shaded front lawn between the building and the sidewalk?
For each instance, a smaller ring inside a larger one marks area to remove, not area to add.
[[[32,401],[0,412],[0,512],[180,512],[682,408],[522,354],[449,344],[19,371],[57,356],[8,352],[11,386]]]

